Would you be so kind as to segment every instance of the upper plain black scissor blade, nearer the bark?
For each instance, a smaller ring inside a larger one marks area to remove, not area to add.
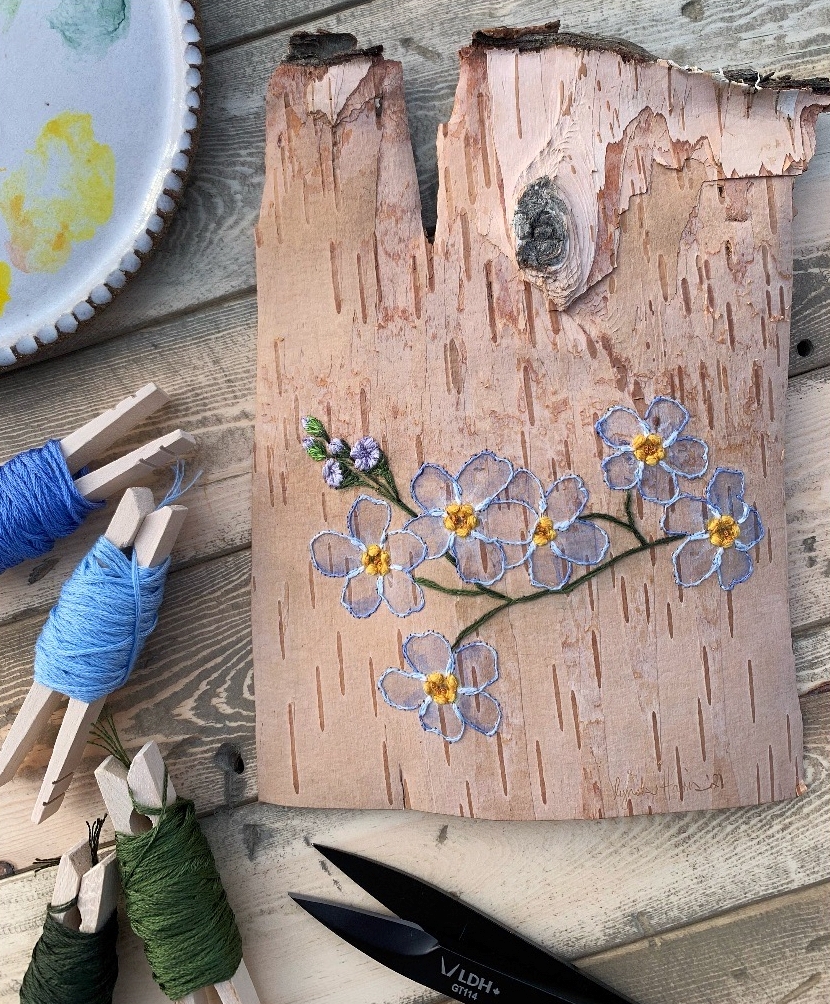
[[[369,896],[423,928],[446,950],[471,960],[487,960],[494,970],[556,992],[560,1000],[631,1004],[630,998],[434,886],[368,857],[316,843],[314,847]]]

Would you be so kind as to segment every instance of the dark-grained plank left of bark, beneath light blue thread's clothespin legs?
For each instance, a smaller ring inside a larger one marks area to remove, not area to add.
[[[174,783],[200,811],[256,797],[249,580],[247,551],[171,575],[159,626],[126,687],[107,704],[128,749],[159,742]],[[41,625],[42,617],[30,616],[0,628],[3,733],[31,683]],[[104,812],[92,771],[105,754],[87,746],[60,812],[39,826],[30,821],[62,714],[0,788],[0,858],[18,868],[59,855],[67,833],[82,832],[84,819]],[[108,823],[104,838],[111,838]]]

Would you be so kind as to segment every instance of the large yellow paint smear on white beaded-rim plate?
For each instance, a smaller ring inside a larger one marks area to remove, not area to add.
[[[72,247],[112,215],[115,157],[98,143],[92,116],[62,111],[0,185],[8,252],[22,272],[57,272]]]

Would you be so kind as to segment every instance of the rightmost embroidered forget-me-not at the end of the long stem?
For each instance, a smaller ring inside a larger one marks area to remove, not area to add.
[[[758,511],[744,501],[741,471],[718,468],[706,498],[680,495],[665,507],[665,533],[687,537],[671,556],[678,585],[700,585],[718,572],[722,589],[733,589],[753,573],[750,550],[764,537]]]

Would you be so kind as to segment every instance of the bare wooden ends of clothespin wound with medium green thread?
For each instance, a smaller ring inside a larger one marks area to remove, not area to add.
[[[107,757],[95,771],[95,779],[112,825],[119,833],[147,832],[159,822],[159,816],[149,818],[137,813],[132,805],[133,798],[140,805],[160,809],[164,804],[171,805],[176,801],[176,789],[155,742],[142,747],[128,771],[115,757]],[[164,798],[166,780],[167,797]],[[209,1004],[208,989],[189,994],[180,1004]],[[222,1004],[260,1004],[244,959],[231,979],[217,983],[214,989]]]

